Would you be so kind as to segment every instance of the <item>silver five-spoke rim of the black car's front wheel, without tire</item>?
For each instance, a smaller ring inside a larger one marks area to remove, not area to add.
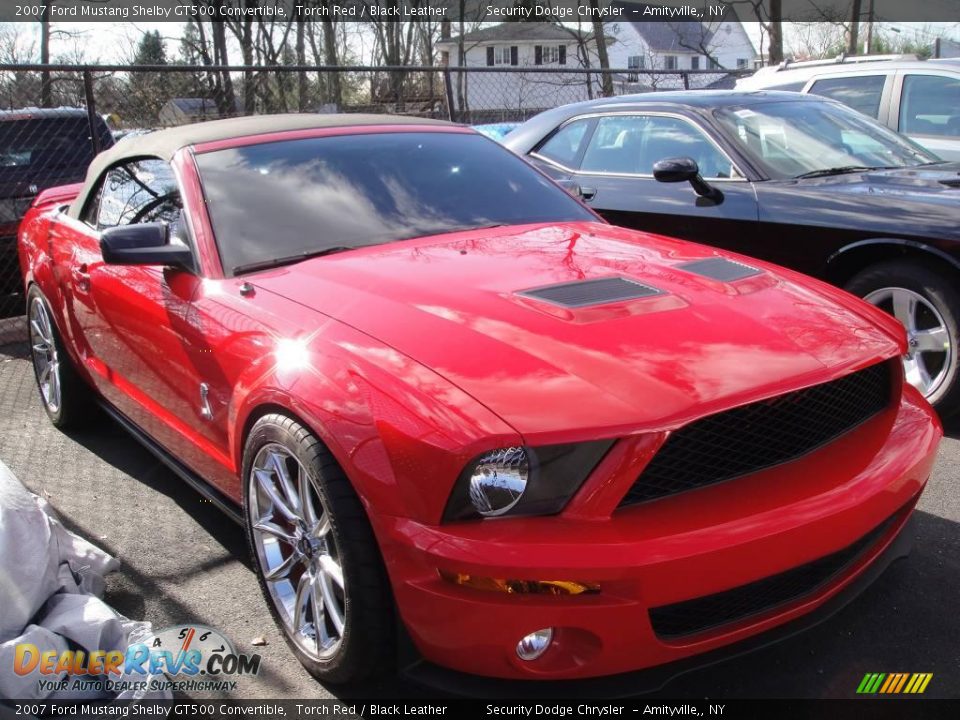
[[[903,323],[907,330],[903,358],[907,382],[924,397],[933,396],[943,385],[956,352],[943,316],[929,300],[906,288],[880,288],[864,299]]]

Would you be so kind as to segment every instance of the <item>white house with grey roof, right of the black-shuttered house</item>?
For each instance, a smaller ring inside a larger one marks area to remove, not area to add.
[[[663,7],[614,0],[616,22],[608,23],[617,42],[609,49],[610,67],[637,70],[752,70],[760,57],[731,5],[715,5],[703,22],[671,20]],[[650,76],[639,75],[640,83]],[[700,80],[701,78],[697,78]],[[702,80],[709,82],[708,76]],[[648,84],[676,87],[677,78]],[[682,84],[682,83],[681,83]],[[691,85],[691,87],[702,85]]]

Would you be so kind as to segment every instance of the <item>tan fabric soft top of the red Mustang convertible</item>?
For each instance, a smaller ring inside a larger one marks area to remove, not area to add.
[[[179,127],[158,130],[121,140],[109,150],[105,150],[90,163],[83,189],[70,205],[69,215],[80,217],[80,211],[87,202],[87,196],[93,182],[103,171],[123,160],[142,157],[157,157],[170,161],[180,148],[217,140],[229,140],[251,135],[284,132],[286,130],[309,130],[312,128],[352,127],[362,125],[451,125],[445,120],[411,118],[402,115],[362,115],[337,114],[319,115],[313,113],[290,113],[286,115],[250,115],[246,117],[211,120],[209,122],[181,125]]]

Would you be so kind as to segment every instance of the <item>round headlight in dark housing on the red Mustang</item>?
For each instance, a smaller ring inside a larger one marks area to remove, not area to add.
[[[611,445],[600,440],[486,452],[460,473],[443,519],[558,513]]]

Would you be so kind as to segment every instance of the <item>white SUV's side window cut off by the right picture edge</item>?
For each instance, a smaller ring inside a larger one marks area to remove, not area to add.
[[[960,79],[907,75],[900,96],[900,132],[960,136]]]

